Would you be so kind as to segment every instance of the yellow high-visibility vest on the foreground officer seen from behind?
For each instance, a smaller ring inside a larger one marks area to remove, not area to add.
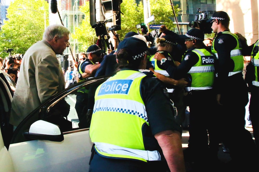
[[[96,89],[89,134],[102,156],[161,160],[157,150],[144,147],[142,126],[149,124],[140,83],[145,76],[139,71],[119,71]]]

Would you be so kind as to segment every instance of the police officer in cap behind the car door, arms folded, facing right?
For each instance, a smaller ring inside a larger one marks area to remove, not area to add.
[[[105,50],[102,50],[98,45],[91,45],[88,47],[86,52],[87,58],[78,66],[77,77],[79,82],[94,76],[96,70],[100,66],[100,64],[96,63],[99,62],[101,55],[104,52]],[[88,92],[89,90],[85,87],[79,89],[77,92],[75,109],[78,114],[79,127],[89,127],[88,124],[85,124],[87,119],[84,118],[88,110]],[[85,112],[83,112],[83,109],[85,109]]]

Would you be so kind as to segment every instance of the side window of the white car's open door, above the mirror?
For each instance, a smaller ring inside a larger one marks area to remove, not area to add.
[[[64,134],[89,128],[96,88],[108,78],[92,78],[77,83],[35,109],[17,126],[11,143],[28,141],[23,131],[29,130],[30,125],[40,119],[57,124]]]

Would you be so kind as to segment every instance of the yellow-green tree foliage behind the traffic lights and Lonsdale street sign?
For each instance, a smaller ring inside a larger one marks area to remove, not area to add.
[[[155,20],[149,24],[164,24],[169,29],[175,27],[172,22],[174,15],[170,1],[150,0],[150,8],[151,15],[154,15]],[[123,1],[120,4],[120,9],[123,14],[121,14],[121,30],[117,31],[117,34],[120,35],[120,40],[122,40],[126,33],[138,31],[136,25],[144,22],[144,10],[142,2],[140,1],[139,4],[136,4],[135,0]],[[174,6],[174,9],[175,13],[180,10],[178,6]],[[86,51],[90,45],[96,43],[97,36],[90,25],[89,2],[86,2],[85,6],[81,7],[80,10],[85,14],[85,18],[79,27],[75,28],[76,32],[75,35],[72,34],[72,39],[78,39],[78,42],[81,43],[79,51]]]

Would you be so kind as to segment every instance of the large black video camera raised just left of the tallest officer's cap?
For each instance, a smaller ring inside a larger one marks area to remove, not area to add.
[[[209,20],[209,13],[204,13],[203,10],[200,10],[200,8],[197,9],[197,12],[200,14],[197,14],[195,16],[195,20],[191,21],[189,23],[189,27],[195,28],[198,27],[200,30],[203,31],[204,34],[211,34],[212,33],[212,23],[207,23],[206,21]]]

